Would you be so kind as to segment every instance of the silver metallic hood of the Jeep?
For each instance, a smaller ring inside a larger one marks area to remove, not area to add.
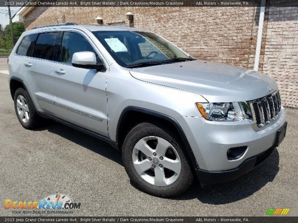
[[[200,94],[209,102],[249,101],[278,89],[268,75],[202,60],[133,68],[130,73],[141,81]]]

